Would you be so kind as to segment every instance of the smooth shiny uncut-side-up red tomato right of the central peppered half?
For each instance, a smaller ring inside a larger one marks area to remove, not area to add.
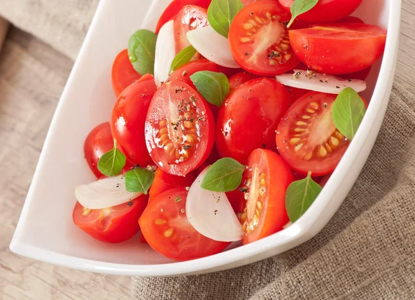
[[[252,79],[233,90],[219,109],[216,147],[245,164],[257,148],[275,149],[275,131],[291,97],[275,79]]]

